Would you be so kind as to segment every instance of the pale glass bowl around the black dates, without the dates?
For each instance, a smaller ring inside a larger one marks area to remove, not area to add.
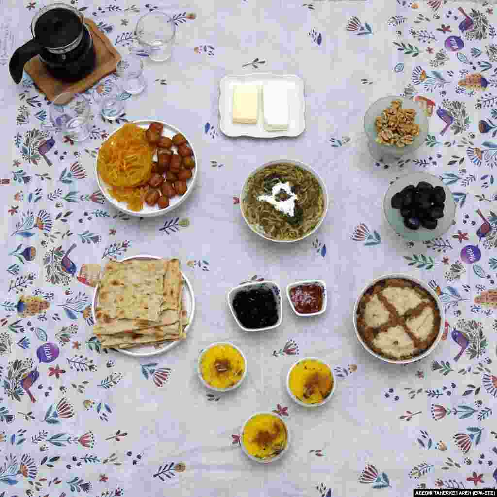
[[[438,226],[435,230],[428,230],[422,226],[418,230],[406,228],[404,220],[400,215],[400,210],[394,209],[391,206],[391,199],[395,193],[402,191],[409,184],[416,186],[420,181],[426,181],[432,184],[433,187],[441,186],[445,191],[444,217],[438,220]],[[395,233],[410,242],[427,242],[428,240],[442,236],[452,226],[456,216],[456,202],[449,187],[437,176],[425,172],[406,174],[394,181],[386,192],[383,209],[388,224],[393,228]]]

